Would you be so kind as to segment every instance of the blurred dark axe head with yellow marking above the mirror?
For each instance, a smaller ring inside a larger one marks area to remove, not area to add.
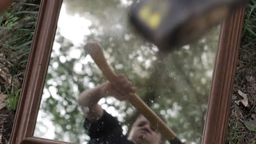
[[[132,5],[130,21],[160,51],[172,51],[200,38],[243,0],[142,0]]]

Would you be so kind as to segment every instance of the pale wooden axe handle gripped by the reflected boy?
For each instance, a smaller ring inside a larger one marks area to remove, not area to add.
[[[106,58],[104,57],[103,50],[101,46],[97,43],[88,43],[85,45],[85,50],[88,52],[92,59],[94,59],[95,63],[97,64],[98,68],[101,69],[103,75],[109,82],[117,80],[117,74],[109,67]],[[167,125],[162,121],[161,118],[158,117],[152,111],[148,105],[144,103],[141,98],[135,94],[134,97],[129,99],[129,102],[141,113],[144,117],[148,119],[148,121],[152,124],[154,128],[156,128],[160,133],[165,137],[166,140],[174,140],[177,139],[176,135],[173,131],[167,127]]]

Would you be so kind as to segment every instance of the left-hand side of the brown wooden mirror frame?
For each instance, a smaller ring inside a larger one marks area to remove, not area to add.
[[[41,0],[10,144],[33,135],[62,0]]]

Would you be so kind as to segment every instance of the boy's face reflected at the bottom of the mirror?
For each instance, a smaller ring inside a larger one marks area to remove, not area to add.
[[[132,125],[128,140],[136,144],[159,144],[161,134],[150,125],[148,119],[140,115]]]

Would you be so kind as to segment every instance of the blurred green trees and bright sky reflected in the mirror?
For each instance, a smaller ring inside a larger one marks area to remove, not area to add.
[[[165,118],[182,141],[201,143],[219,26],[202,39],[163,55],[133,32],[129,0],[63,0],[34,136],[88,143],[80,93],[106,82],[84,50],[96,40],[115,73],[123,73],[136,93]],[[126,101],[102,98],[98,104],[117,117],[127,134],[136,109]]]

